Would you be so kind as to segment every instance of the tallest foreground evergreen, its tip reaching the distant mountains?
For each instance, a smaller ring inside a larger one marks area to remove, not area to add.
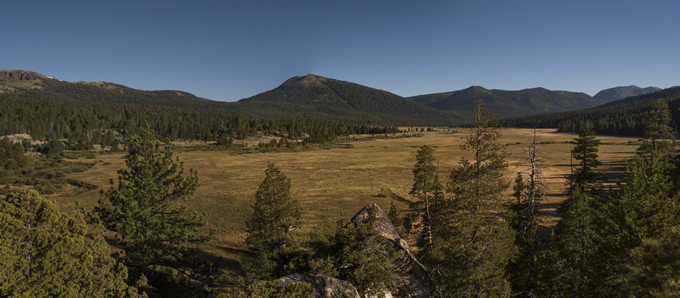
[[[435,267],[442,293],[452,297],[509,296],[505,272],[516,254],[514,232],[504,208],[503,191],[509,187],[503,178],[508,165],[496,119],[477,103],[472,134],[461,147],[473,154],[462,158],[451,170],[446,209],[440,218],[443,228],[440,253],[443,262]]]

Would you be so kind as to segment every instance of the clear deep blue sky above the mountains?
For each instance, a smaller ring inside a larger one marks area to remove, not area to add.
[[[3,1],[0,69],[220,101],[309,73],[414,96],[680,85],[680,1]]]

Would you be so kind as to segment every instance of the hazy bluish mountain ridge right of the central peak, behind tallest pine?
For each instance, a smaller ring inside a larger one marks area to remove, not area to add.
[[[537,113],[561,112],[595,107],[605,103],[585,93],[551,91],[545,88],[519,91],[488,90],[479,86],[446,93],[410,97],[411,100],[438,110],[474,113],[478,101],[499,118]]]

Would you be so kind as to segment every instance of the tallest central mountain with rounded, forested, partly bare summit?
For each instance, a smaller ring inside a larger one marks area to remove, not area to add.
[[[275,89],[237,104],[246,114],[250,110],[377,125],[452,125],[469,118],[387,91],[312,74],[290,78]]]

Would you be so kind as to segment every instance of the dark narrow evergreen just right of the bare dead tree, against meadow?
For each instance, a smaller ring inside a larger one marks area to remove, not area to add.
[[[595,172],[595,168],[602,165],[597,159],[600,141],[595,139],[595,132],[592,129],[586,128],[581,130],[574,142],[576,146],[571,150],[571,155],[579,161],[580,167],[574,172],[572,181],[585,189],[602,176],[601,173]]]

